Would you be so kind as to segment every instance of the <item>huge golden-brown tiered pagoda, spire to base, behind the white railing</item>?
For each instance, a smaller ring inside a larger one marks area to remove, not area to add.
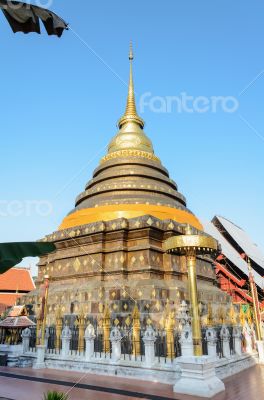
[[[128,97],[119,130],[74,210],[43,239],[54,242],[57,250],[41,257],[37,289],[23,299],[37,313],[40,286],[49,275],[51,323],[58,305],[66,316],[84,310],[90,319],[102,317],[108,307],[111,318],[121,323],[132,318],[135,304],[143,322],[159,323],[168,304],[176,310],[181,300],[188,301],[185,257],[167,254],[164,242],[183,234],[186,224],[194,232],[203,227],[143,130],[135,103],[133,58],[131,46]],[[198,257],[197,277],[202,304],[227,301],[210,260]]]

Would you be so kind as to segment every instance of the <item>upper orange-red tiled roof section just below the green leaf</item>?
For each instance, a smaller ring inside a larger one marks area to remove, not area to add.
[[[35,285],[29,269],[11,268],[0,275],[0,291],[17,290],[18,292],[30,292],[34,289]]]

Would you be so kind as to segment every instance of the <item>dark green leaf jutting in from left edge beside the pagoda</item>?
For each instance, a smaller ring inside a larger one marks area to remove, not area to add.
[[[0,243],[0,274],[19,264],[24,257],[40,257],[56,250],[50,242]]]

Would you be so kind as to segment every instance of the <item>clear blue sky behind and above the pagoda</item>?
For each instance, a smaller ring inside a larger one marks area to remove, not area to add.
[[[14,35],[0,17],[0,241],[39,239],[73,208],[124,111],[132,39],[138,101],[185,92],[239,102],[234,113],[147,107],[142,116],[189,208],[202,220],[231,219],[263,249],[263,3],[32,3],[51,4],[75,33]],[[14,200],[19,215],[8,209]],[[38,215],[35,200],[52,213]]]

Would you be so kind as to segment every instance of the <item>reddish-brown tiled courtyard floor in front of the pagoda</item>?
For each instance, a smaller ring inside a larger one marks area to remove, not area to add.
[[[254,366],[223,380],[226,391],[213,400],[262,400],[264,366]],[[98,376],[59,370],[0,368],[1,399],[39,400],[44,392],[68,393],[70,400],[153,399],[194,400],[200,397],[176,395],[171,385]]]

